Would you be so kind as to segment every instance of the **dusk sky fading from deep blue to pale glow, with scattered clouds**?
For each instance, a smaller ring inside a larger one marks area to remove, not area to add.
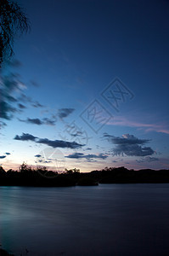
[[[0,76],[0,165],[169,168],[169,1],[20,0]]]

